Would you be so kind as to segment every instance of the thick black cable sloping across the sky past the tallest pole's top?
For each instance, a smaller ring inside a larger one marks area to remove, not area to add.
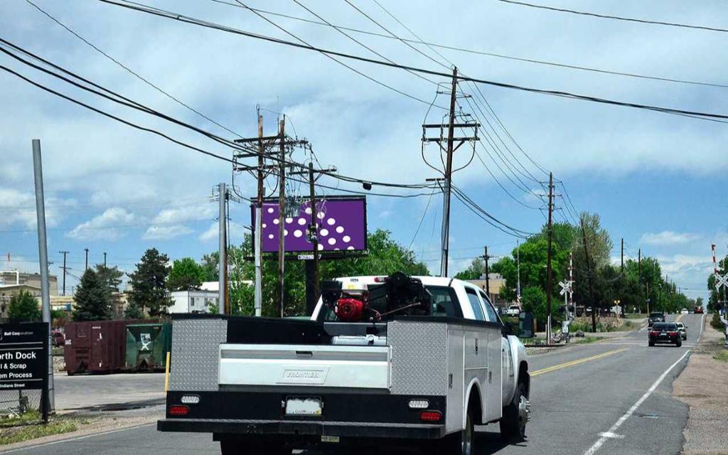
[[[417,68],[414,66],[401,65],[398,63],[389,63],[384,60],[365,58],[365,57],[362,57],[359,55],[352,55],[352,54],[347,54],[345,52],[337,52],[337,51],[333,51],[333,50],[328,50],[323,47],[314,47],[314,46],[310,46],[310,45],[306,45],[306,44],[298,44],[298,43],[294,43],[293,41],[287,41],[285,39],[277,39],[277,38],[273,38],[272,36],[265,36],[265,35],[261,35],[258,33],[251,33],[248,31],[243,31],[238,28],[231,28],[231,27],[228,27],[225,25],[210,23],[208,21],[199,20],[194,17],[180,15],[180,14],[174,13],[174,12],[167,12],[162,9],[152,9],[150,7],[146,7],[146,5],[143,5],[140,7],[140,6],[135,6],[133,4],[122,4],[122,3],[119,3],[119,2],[113,1],[113,0],[97,0],[97,1],[100,1],[100,2],[103,2],[106,4],[112,4],[117,7],[133,9],[135,11],[144,12],[144,13],[150,14],[150,15],[165,17],[170,20],[177,20],[182,23],[189,23],[192,25],[197,25],[197,26],[205,27],[205,28],[213,28],[215,30],[225,31],[226,33],[234,33],[234,34],[241,35],[241,36],[248,36],[249,38],[260,39],[263,41],[269,41],[269,42],[272,42],[275,44],[283,44],[283,45],[290,46],[290,47],[298,47],[300,49],[312,50],[314,52],[319,52],[319,53],[326,54],[326,55],[347,58],[350,60],[358,60],[358,61],[362,61],[362,62],[366,62],[366,63],[373,63],[375,65],[380,65],[380,66],[389,66],[390,68],[411,70],[411,71],[416,71],[416,72],[419,72],[422,74],[430,74],[432,76],[441,76],[443,78],[451,77],[451,74],[446,74],[441,71],[432,71],[432,70],[428,70],[425,68]],[[700,119],[700,120],[706,120],[706,121],[710,121],[710,122],[728,123],[728,122],[726,122],[726,120],[728,119],[728,115],[726,115],[726,114],[714,114],[714,113],[709,113],[709,112],[689,111],[686,109],[665,108],[665,107],[661,107],[661,106],[652,106],[649,104],[611,100],[608,98],[600,98],[600,97],[592,96],[592,95],[580,95],[577,93],[563,92],[561,90],[545,90],[545,89],[539,89],[539,88],[534,88],[534,87],[525,87],[525,86],[516,85],[516,84],[509,84],[509,83],[505,83],[505,82],[496,82],[496,81],[491,81],[491,80],[487,80],[487,79],[477,79],[477,78],[472,78],[472,77],[467,77],[467,76],[458,76],[458,79],[462,80],[462,81],[472,81],[472,82],[476,82],[478,84],[487,84],[487,85],[492,85],[494,87],[502,87],[502,88],[511,89],[511,90],[520,90],[523,92],[539,93],[541,95],[550,95],[550,96],[557,96],[560,98],[569,98],[569,99],[574,99],[574,100],[590,101],[593,103],[608,104],[608,105],[612,105],[612,106],[621,106],[621,107],[628,107],[628,108],[637,108],[637,109],[642,109],[642,110],[647,110],[647,111],[656,111],[656,112],[660,112],[662,114],[687,116],[692,119]],[[403,95],[410,97],[410,95],[406,95],[406,94],[403,94]],[[417,98],[416,100],[418,100],[422,103],[426,103],[427,105],[430,105],[430,103],[428,103],[425,100],[421,100],[419,98]]]

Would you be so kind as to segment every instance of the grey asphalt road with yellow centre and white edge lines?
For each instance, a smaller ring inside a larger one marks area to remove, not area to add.
[[[700,336],[701,315],[678,317],[688,326],[688,339],[680,348],[647,347],[643,329],[531,357],[532,418],[526,441],[505,445],[497,425],[491,425],[483,427],[477,453],[679,454],[687,406],[670,391]],[[192,455],[219,454],[219,449],[210,435],[159,433],[145,426],[13,453]]]

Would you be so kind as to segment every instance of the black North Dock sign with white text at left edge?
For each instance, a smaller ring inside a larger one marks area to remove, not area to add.
[[[0,390],[45,389],[48,324],[0,325]]]

